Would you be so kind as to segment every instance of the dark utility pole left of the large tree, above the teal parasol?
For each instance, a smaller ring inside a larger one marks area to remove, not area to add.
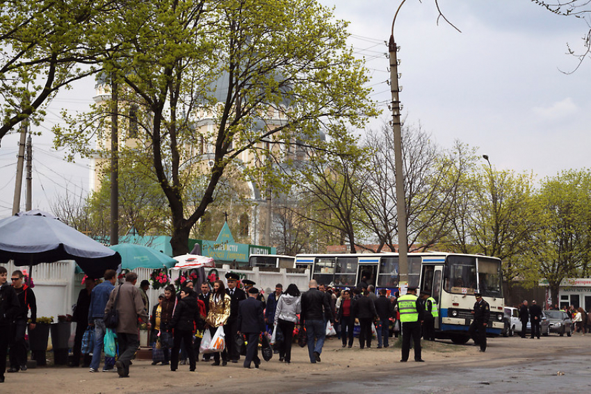
[[[118,85],[111,74],[111,245],[119,243]]]

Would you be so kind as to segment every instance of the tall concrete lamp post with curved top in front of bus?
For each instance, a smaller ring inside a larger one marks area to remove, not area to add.
[[[406,203],[404,195],[404,174],[402,160],[402,123],[400,122],[400,88],[398,87],[398,51],[396,42],[394,42],[394,23],[398,16],[398,11],[404,2],[400,3],[394,20],[392,21],[392,31],[388,42],[390,58],[390,90],[392,93],[392,129],[394,131],[394,166],[396,171],[396,215],[398,216],[398,274],[400,276],[398,286],[408,284],[408,241],[406,229]]]

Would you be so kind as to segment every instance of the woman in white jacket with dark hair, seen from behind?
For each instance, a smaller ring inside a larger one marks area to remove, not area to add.
[[[279,347],[279,361],[291,362],[291,342],[293,328],[298,322],[298,315],[302,310],[300,290],[295,284],[287,286],[277,302],[275,310],[275,325],[283,334],[283,342]]]

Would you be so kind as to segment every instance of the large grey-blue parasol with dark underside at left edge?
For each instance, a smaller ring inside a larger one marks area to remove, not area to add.
[[[0,262],[38,265],[74,260],[92,278],[117,269],[121,256],[112,249],[72,229],[49,213],[19,212],[0,220]]]

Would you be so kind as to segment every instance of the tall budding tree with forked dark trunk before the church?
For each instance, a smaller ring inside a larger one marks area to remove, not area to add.
[[[106,69],[147,113],[136,149],[153,158],[175,254],[188,252],[191,228],[227,167],[243,165],[260,190],[275,179],[279,190],[286,173],[268,171],[268,161],[289,161],[289,149],[273,146],[323,147],[323,134],[346,138],[347,126],[375,114],[366,70],[346,47],[346,23],[316,1],[140,1],[124,3],[113,21],[122,50]],[[79,131],[88,129],[62,133],[58,145],[88,149]],[[199,174],[207,185],[188,209],[185,188]]]

